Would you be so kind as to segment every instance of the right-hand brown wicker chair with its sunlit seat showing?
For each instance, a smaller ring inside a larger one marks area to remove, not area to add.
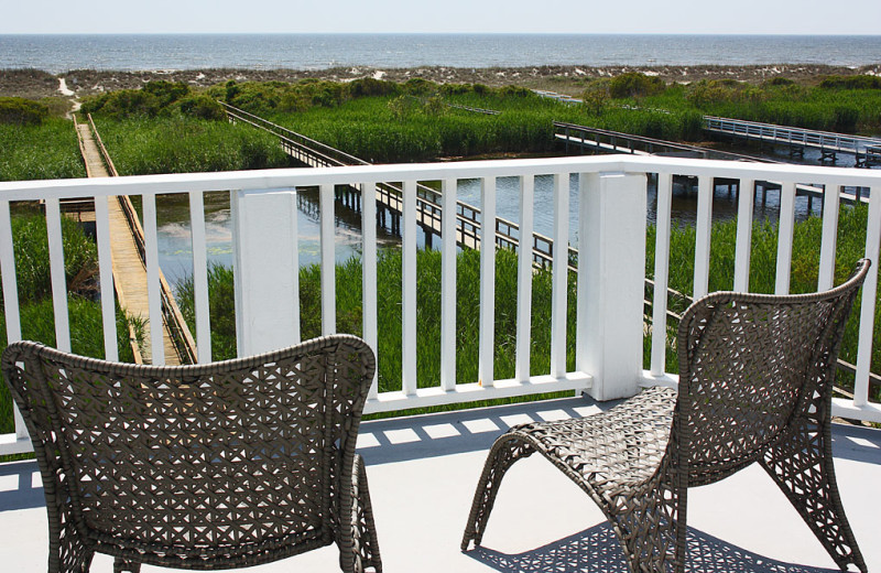
[[[866,572],[835,480],[830,401],[868,269],[862,260],[817,294],[705,296],[679,324],[678,394],[651,388],[608,412],[509,430],[487,458],[463,551],[480,544],[508,468],[539,452],[602,509],[631,571],[682,572],[688,487],[759,462],[838,566]]]

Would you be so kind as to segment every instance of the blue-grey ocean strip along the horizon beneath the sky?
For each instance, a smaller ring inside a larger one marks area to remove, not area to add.
[[[0,69],[325,69],[881,63],[881,35],[0,35]]]

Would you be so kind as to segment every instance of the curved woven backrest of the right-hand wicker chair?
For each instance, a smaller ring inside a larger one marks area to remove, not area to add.
[[[829,418],[845,323],[869,264],[820,293],[717,292],[688,307],[673,432],[690,485],[749,465],[805,417]]]

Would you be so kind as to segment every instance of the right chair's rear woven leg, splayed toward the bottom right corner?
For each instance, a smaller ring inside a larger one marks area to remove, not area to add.
[[[828,428],[804,422],[777,440],[760,461],[835,562],[866,573],[835,479]]]

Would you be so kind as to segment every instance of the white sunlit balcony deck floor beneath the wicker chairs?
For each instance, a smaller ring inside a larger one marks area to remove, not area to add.
[[[587,398],[572,398],[365,422],[359,451],[368,464],[384,571],[624,572],[623,554],[599,509],[541,456],[509,472],[483,545],[459,551],[474,488],[496,436],[515,423],[585,415],[599,408]],[[879,571],[881,431],[836,424],[833,435],[842,502],[869,570]],[[837,571],[755,465],[689,490],[688,525],[687,571]],[[0,540],[3,571],[45,571],[46,519],[34,462],[0,465]],[[112,571],[111,559],[97,555],[93,571]],[[339,567],[337,551],[329,547],[250,571]]]

